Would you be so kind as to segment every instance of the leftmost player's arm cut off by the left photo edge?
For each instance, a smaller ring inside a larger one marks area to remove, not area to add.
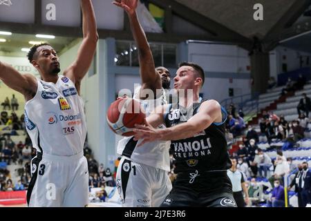
[[[30,74],[21,75],[9,64],[0,61],[0,80],[13,90],[23,94],[26,100],[31,99],[37,91],[37,80]]]

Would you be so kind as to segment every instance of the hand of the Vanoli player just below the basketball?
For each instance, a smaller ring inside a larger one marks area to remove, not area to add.
[[[148,124],[146,119],[144,119],[144,125],[135,124],[133,132],[135,141],[142,139],[142,142],[138,146],[161,139],[160,130],[153,128],[153,126]]]

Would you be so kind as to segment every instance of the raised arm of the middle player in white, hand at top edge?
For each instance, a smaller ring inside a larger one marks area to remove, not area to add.
[[[156,67],[147,37],[140,25],[140,21],[138,21],[138,16],[135,11],[138,6],[138,0],[116,0],[113,3],[123,8],[129,16],[133,37],[138,47],[142,89],[148,88],[155,93],[156,89],[162,88],[162,81],[160,75],[155,70]]]

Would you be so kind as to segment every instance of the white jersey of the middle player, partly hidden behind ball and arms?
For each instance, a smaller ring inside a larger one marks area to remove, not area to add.
[[[142,107],[146,111],[148,116],[156,106],[167,104],[165,91],[162,88],[161,95],[158,99],[138,99],[140,95],[140,88],[135,90],[133,99],[142,104]],[[164,125],[160,125],[158,128],[164,128]],[[125,137],[117,144],[117,153],[129,158],[129,160],[139,163],[153,166],[164,171],[170,171],[169,166],[169,147],[170,141],[154,141],[143,144],[137,147],[142,142],[138,140],[135,142],[133,137]]]

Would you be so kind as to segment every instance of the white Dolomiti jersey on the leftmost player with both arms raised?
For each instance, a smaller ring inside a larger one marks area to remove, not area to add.
[[[37,93],[26,102],[25,123],[32,146],[50,155],[83,151],[86,139],[84,104],[75,84],[59,75],[53,82],[37,79]]]

